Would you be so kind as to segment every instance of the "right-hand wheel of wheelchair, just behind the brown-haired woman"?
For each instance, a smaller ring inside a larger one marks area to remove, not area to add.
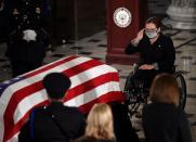
[[[185,104],[186,104],[186,83],[184,80],[184,77],[180,73],[174,73],[174,78],[177,79],[179,90],[180,90],[180,102],[179,102],[179,107],[184,109]]]

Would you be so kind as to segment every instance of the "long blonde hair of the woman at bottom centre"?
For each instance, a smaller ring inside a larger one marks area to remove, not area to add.
[[[113,114],[108,104],[94,104],[87,118],[86,135],[114,139]]]

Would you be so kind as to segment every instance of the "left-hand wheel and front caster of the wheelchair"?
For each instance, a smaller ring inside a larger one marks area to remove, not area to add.
[[[147,98],[145,98],[143,91],[143,87],[135,87],[133,82],[133,73],[129,74],[123,89],[123,92],[127,96],[126,104],[129,106],[130,115],[135,114],[139,109],[139,106],[147,101]]]

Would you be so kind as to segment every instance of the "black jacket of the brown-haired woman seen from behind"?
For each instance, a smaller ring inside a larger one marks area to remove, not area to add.
[[[147,142],[192,142],[186,115],[173,104],[144,106],[143,128]]]

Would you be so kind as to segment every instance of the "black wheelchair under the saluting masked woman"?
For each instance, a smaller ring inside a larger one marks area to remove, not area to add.
[[[138,81],[138,82],[134,81],[133,77],[138,68],[139,68],[138,65],[133,67],[133,72],[131,72],[129,76],[127,77],[125,89],[123,89],[123,92],[127,96],[126,104],[129,106],[129,113],[131,116],[138,112],[139,107],[142,104],[147,104],[147,96],[149,92],[149,88],[146,88],[143,81]],[[173,73],[173,76],[177,79],[179,90],[180,90],[179,107],[181,109],[184,109],[185,104],[186,104],[186,95],[187,95],[185,79],[182,76],[182,74],[177,70]]]

